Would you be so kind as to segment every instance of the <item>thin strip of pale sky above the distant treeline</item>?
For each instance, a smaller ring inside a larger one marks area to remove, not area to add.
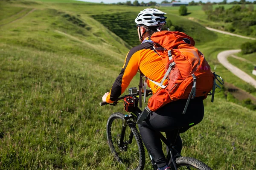
[[[118,2],[126,2],[127,0],[82,0],[82,1],[87,1],[87,2],[93,2],[93,3],[100,3],[100,2],[104,2],[104,3],[118,3]],[[131,2],[133,2],[134,0],[130,0]],[[161,3],[163,0],[138,0],[139,3],[141,3],[142,1],[144,3],[148,3],[150,1],[154,1],[154,2],[157,2],[157,3]],[[171,0],[168,0],[168,1],[171,1]],[[184,3],[189,3],[191,2],[192,0],[180,0],[181,2],[184,2]],[[199,2],[200,0],[194,0],[195,2]],[[222,2],[223,0],[202,0],[202,2],[206,3],[206,2]],[[232,2],[234,0],[227,0],[227,2]],[[239,1],[239,0],[236,0],[236,1]],[[250,0],[251,1],[251,0]]]

